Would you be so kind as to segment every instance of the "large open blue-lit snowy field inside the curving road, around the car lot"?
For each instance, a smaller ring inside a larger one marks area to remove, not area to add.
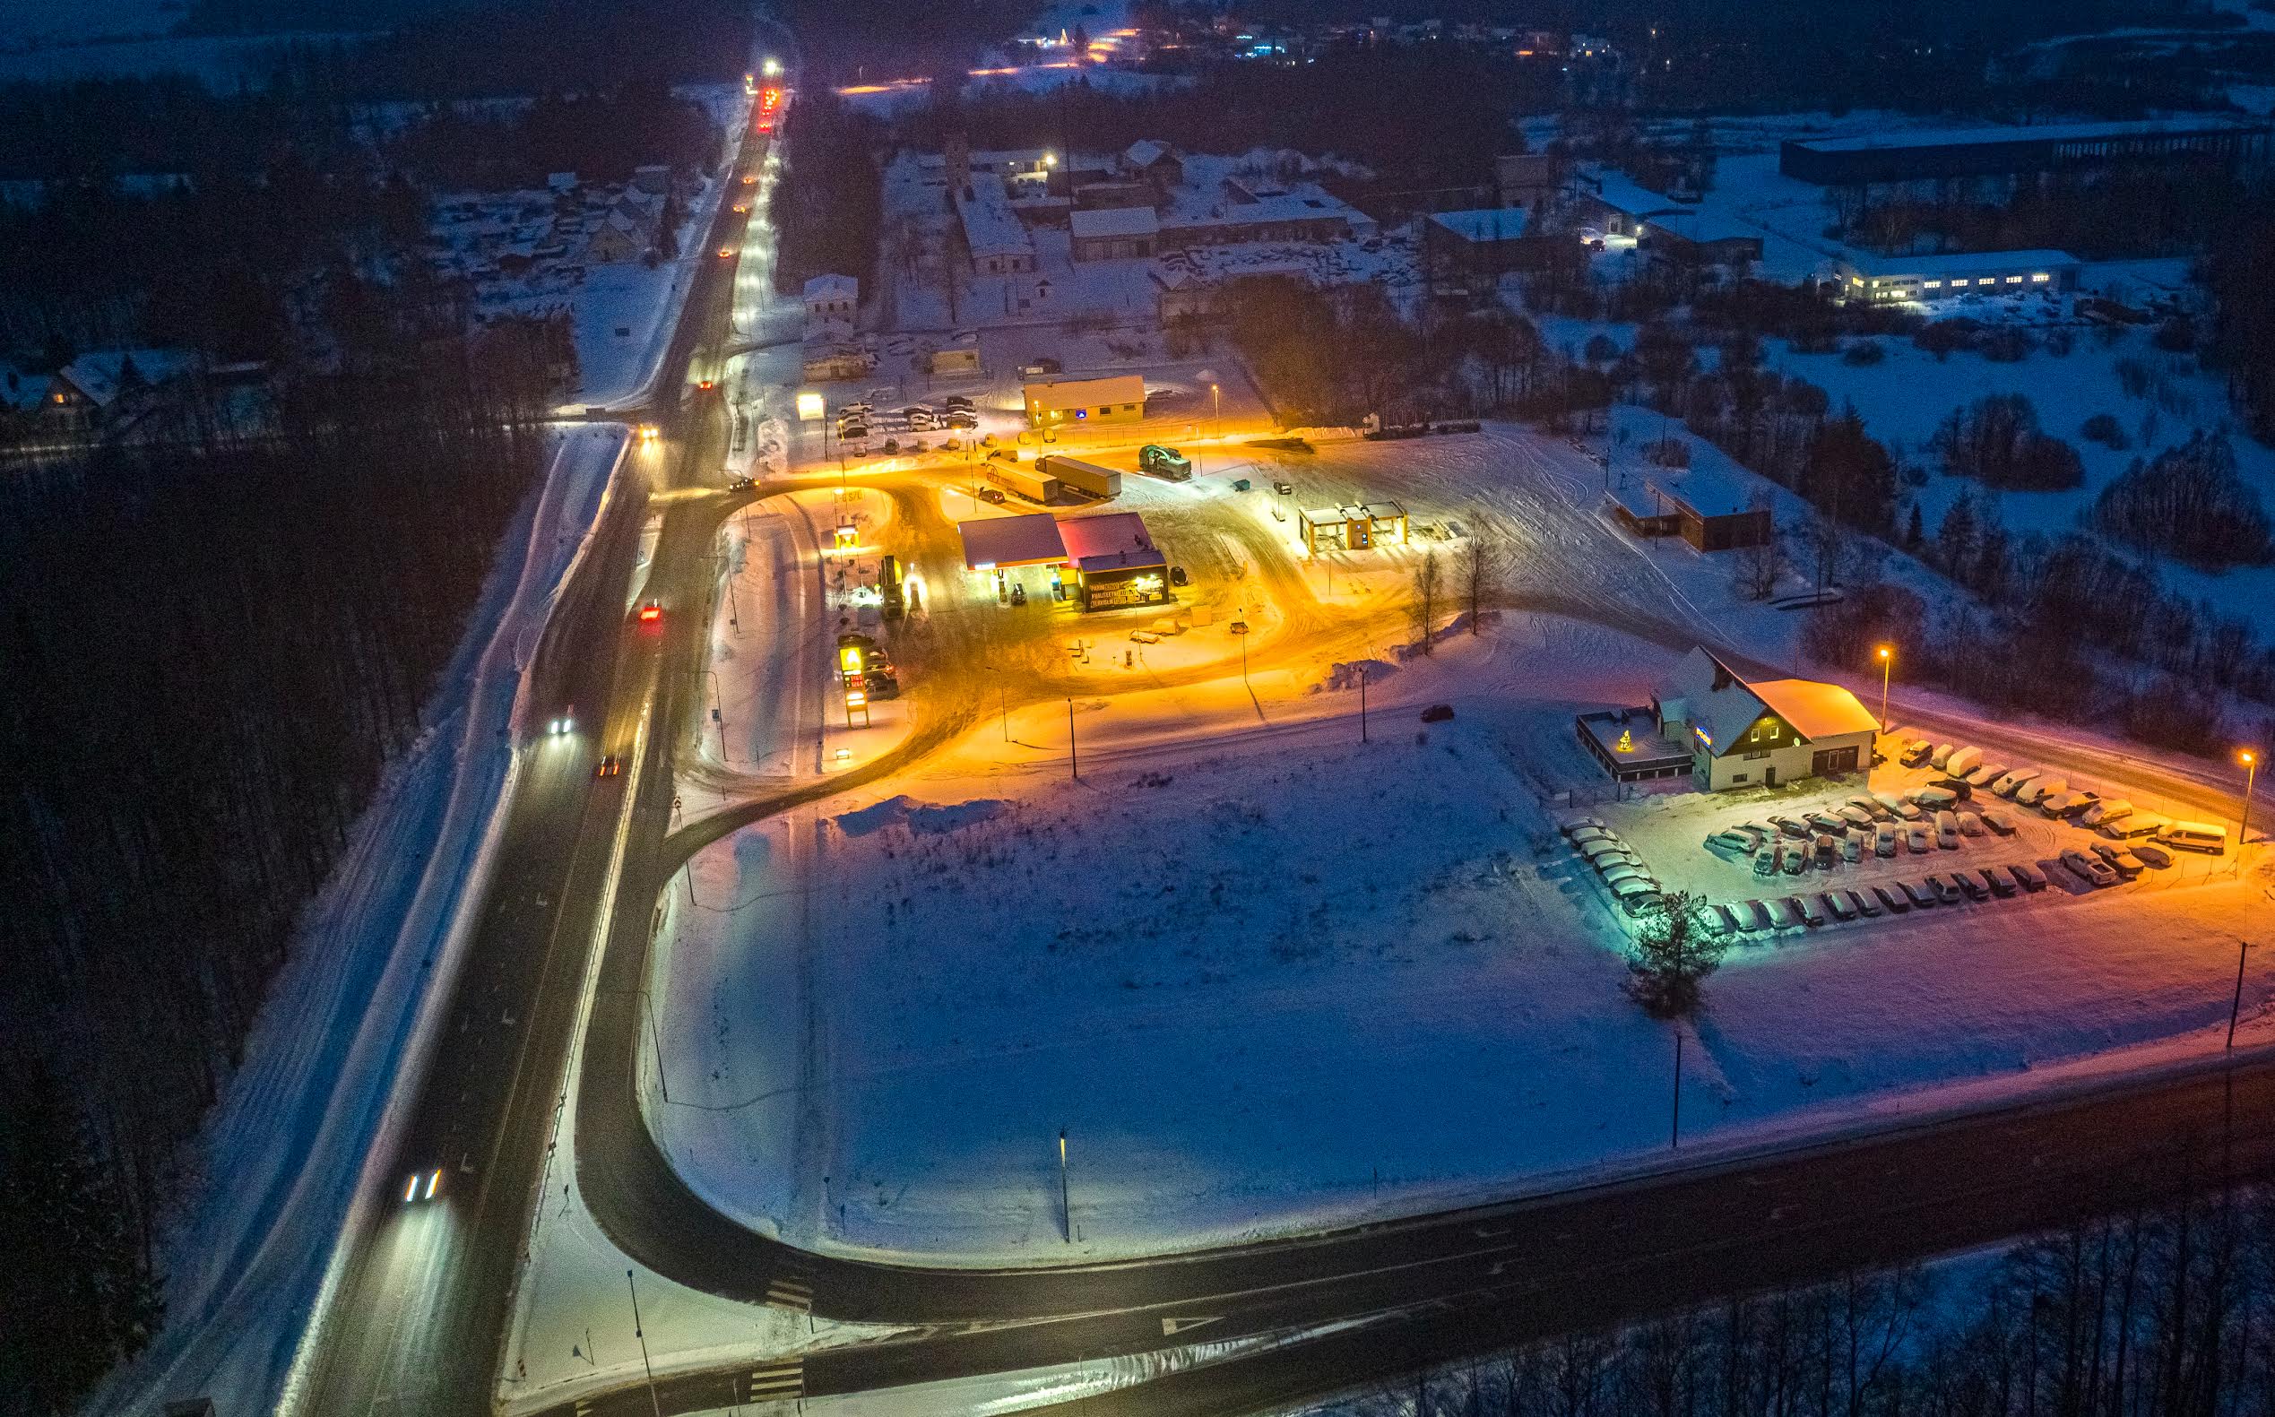
[[[651,1121],[746,1224],[937,1262],[1233,1242],[1649,1160],[1672,1033],[1624,996],[1624,928],[1529,762],[1665,662],[1517,616],[1401,669],[1367,746],[1331,716],[1117,762],[1124,701],[1101,701],[1081,782],[976,732],[883,801],[748,828],[696,860],[664,948]],[[1440,694],[1461,716],[1417,732]],[[1238,723],[1210,712],[1203,739]],[[2218,1046],[2223,921],[2259,898],[2048,892],[1747,946],[1690,1035],[1686,1142]],[[2255,1019],[2270,987],[2252,969]]]

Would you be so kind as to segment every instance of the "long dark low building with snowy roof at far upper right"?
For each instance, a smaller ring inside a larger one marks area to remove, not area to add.
[[[2275,125],[2266,121],[2204,116],[1786,139],[1777,148],[1777,171],[1820,187],[1859,187],[1927,177],[2018,177],[2182,159],[2257,166],[2266,161],[2268,134],[2275,134]]]

